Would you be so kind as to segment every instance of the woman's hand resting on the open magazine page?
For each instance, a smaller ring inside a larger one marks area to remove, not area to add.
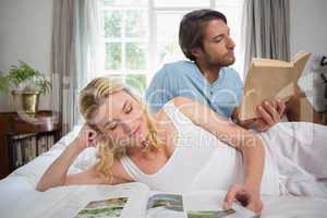
[[[222,205],[223,209],[230,209],[234,201],[240,202],[242,206],[255,211],[258,215],[262,214],[263,202],[261,199],[258,190],[249,187],[246,185],[233,184],[226,194]]]

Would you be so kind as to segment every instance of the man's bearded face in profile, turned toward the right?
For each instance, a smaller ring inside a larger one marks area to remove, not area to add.
[[[227,24],[222,20],[213,20],[204,29],[203,49],[199,48],[196,59],[207,65],[228,66],[235,61],[234,47]]]

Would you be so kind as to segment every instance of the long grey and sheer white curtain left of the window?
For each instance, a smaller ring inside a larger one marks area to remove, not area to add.
[[[78,93],[104,65],[98,0],[55,0],[52,24],[52,108],[62,133],[81,122]]]

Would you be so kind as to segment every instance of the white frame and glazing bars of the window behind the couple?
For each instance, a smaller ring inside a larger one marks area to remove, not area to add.
[[[217,3],[219,0],[209,0],[208,9],[217,10],[217,5],[219,7],[231,7],[240,5],[242,7],[243,0],[233,0],[225,3]],[[225,0],[227,1],[227,0]],[[125,12],[126,10],[147,10],[147,36],[142,39],[137,40],[137,38],[128,39],[125,38],[125,13],[123,14],[123,21],[122,21],[122,36],[118,40],[113,39],[107,39],[104,35],[101,40],[104,45],[106,46],[107,43],[120,43],[121,44],[121,69],[120,70],[106,70],[105,65],[104,72],[101,74],[114,74],[114,75],[121,75],[122,77],[125,77],[128,75],[145,75],[146,80],[146,86],[150,82],[152,77],[155,75],[156,71],[161,66],[161,63],[158,63],[158,28],[157,28],[157,14],[158,12],[189,12],[193,10],[198,10],[198,7],[156,7],[155,0],[147,0],[147,4],[144,5],[102,5],[100,9],[100,12],[104,14],[104,11],[109,10],[121,10]],[[219,9],[218,9],[219,10]],[[104,25],[105,28],[105,25]],[[241,32],[241,29],[239,29]],[[178,41],[178,38],[177,38]],[[145,70],[128,70],[126,69],[126,56],[125,56],[125,46],[126,43],[144,43],[145,46],[145,59],[146,59],[146,68]],[[106,56],[106,55],[105,55]],[[106,60],[106,57],[105,57]],[[175,60],[178,61],[178,60]]]

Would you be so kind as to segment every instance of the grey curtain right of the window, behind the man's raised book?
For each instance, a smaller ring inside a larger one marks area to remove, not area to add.
[[[244,77],[252,58],[290,60],[289,0],[246,0],[242,22]]]

